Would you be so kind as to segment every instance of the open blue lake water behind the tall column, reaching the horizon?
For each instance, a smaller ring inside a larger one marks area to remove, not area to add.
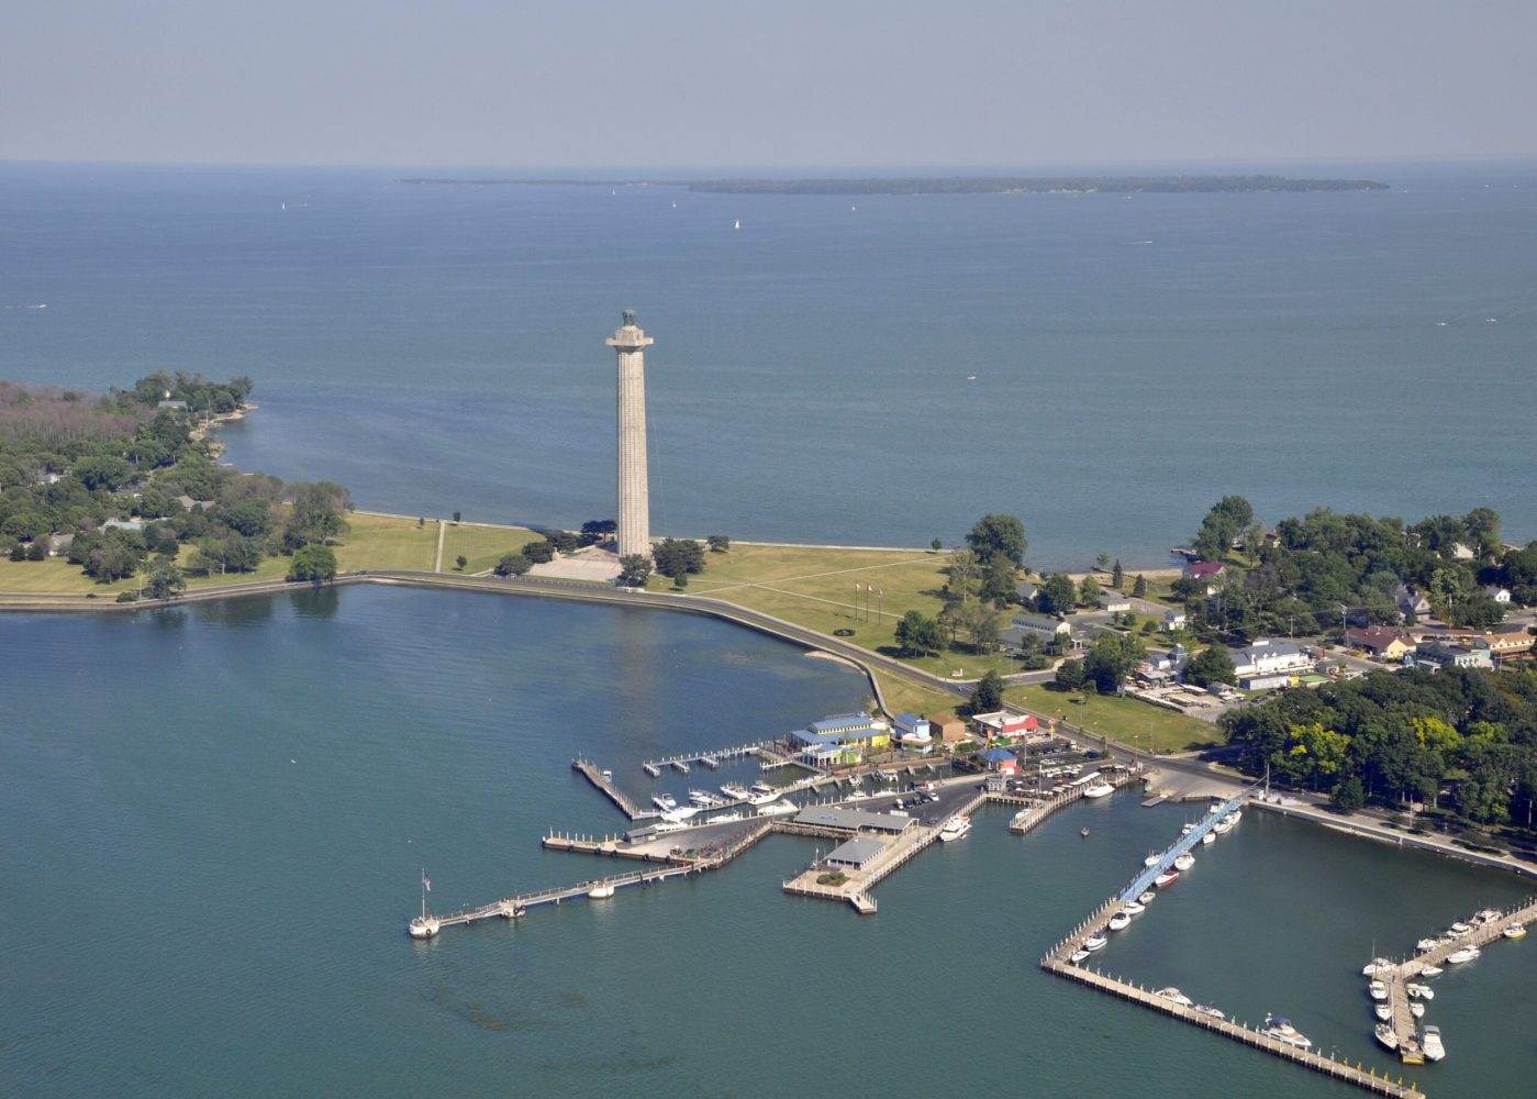
[[[612,513],[603,338],[635,306],[661,532],[927,546],[1005,510],[1036,564],[1157,564],[1239,492],[1268,521],[1488,504],[1537,536],[1537,166],[1286,171],[1394,189],[819,198],[0,164],[0,377],[249,374],[263,409],[224,432],[243,467],[377,510],[575,526]]]

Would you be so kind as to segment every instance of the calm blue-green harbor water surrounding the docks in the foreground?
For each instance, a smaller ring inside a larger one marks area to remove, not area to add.
[[[1194,812],[1133,795],[1028,838],[985,810],[875,918],[784,896],[816,844],[772,838],[701,879],[406,939],[423,867],[438,908],[609,868],[536,842],[616,824],[573,755],[644,793],[647,756],[864,702],[745,630],[347,589],[8,616],[0,652],[0,1094],[1353,1094],[1036,968]],[[1385,1064],[1371,950],[1525,891],[1251,812],[1102,958]],[[1440,978],[1449,1057],[1422,1085],[1525,1094],[1534,1008],[1528,942]]]

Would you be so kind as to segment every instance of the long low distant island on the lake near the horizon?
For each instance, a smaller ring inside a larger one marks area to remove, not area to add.
[[[450,186],[687,188],[721,195],[1050,195],[1219,194],[1256,191],[1388,191],[1377,180],[1291,180],[1285,175],[950,175],[822,180],[510,180],[410,177],[397,183]]]

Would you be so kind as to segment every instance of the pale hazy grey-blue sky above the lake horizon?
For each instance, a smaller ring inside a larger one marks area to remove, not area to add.
[[[1534,0],[0,0],[0,160],[1537,154]]]

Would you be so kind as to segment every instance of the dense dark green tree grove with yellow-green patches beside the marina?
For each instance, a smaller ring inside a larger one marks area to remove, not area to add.
[[[1340,804],[1420,801],[1477,824],[1531,825],[1537,799],[1537,670],[1374,672],[1290,690],[1227,715],[1243,767]]]

